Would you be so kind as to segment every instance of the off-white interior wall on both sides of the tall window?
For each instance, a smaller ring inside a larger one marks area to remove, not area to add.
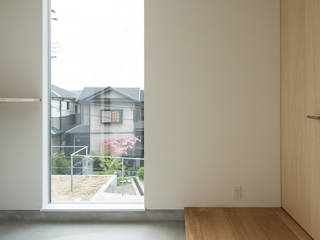
[[[278,206],[279,0],[145,4],[146,207]],[[0,36],[0,96],[41,96],[41,0]],[[41,208],[41,142],[40,104],[0,104],[0,209]]]

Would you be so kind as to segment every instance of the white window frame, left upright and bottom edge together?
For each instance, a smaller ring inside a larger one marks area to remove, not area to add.
[[[145,211],[145,201],[118,202],[52,202],[51,201],[51,0],[42,2],[42,212],[131,212]],[[61,110],[60,102],[60,110]],[[78,105],[80,118],[82,106]],[[123,110],[120,112],[121,123]]]

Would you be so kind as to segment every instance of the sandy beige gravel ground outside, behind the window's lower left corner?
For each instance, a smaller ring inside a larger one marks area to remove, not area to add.
[[[75,175],[73,176],[73,192],[71,192],[70,175],[52,175],[51,201],[89,201],[110,177],[108,175]]]

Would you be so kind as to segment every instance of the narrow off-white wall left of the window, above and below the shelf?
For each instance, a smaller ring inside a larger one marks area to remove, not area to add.
[[[0,1],[0,97],[41,97],[41,0]],[[41,207],[41,104],[0,103],[0,209]]]

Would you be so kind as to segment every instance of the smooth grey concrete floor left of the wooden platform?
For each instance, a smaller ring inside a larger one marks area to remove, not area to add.
[[[182,240],[184,222],[0,222],[1,240]]]

